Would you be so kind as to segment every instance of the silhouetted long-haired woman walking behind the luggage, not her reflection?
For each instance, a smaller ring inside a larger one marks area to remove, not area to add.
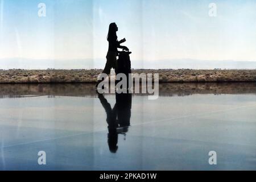
[[[110,74],[110,69],[111,68],[116,68],[117,67],[117,48],[122,48],[125,49],[126,51],[129,51],[129,49],[126,46],[120,46],[121,43],[125,42],[125,38],[122,40],[118,41],[117,40],[117,31],[118,27],[117,24],[115,23],[110,23],[109,24],[109,32],[108,32],[108,42],[109,42],[109,49],[108,53],[106,55],[106,65],[102,73],[106,73],[106,75]],[[98,83],[97,83],[98,85]],[[96,86],[97,86],[96,85]]]

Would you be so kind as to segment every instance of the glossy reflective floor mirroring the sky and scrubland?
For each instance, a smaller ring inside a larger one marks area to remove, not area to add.
[[[159,89],[157,100],[133,94],[113,131],[115,94],[94,85],[0,85],[0,169],[256,169],[256,84]]]

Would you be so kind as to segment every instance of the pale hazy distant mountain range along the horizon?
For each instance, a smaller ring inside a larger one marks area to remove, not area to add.
[[[13,58],[0,59],[0,69],[103,69],[105,63],[105,59],[42,60]],[[131,67],[134,69],[256,69],[256,61],[193,59],[131,60]]]

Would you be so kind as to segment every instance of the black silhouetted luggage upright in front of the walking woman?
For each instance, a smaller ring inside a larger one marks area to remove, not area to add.
[[[115,73],[123,73],[127,78],[127,87],[129,85],[129,73],[131,73],[131,61],[130,61],[130,53],[129,51],[118,51],[118,60],[117,60],[117,68],[115,69]],[[117,83],[117,82],[116,82]]]

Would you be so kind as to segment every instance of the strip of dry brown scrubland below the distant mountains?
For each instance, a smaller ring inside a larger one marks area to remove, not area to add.
[[[0,70],[0,83],[96,82],[101,69]],[[254,70],[133,69],[133,73],[159,73],[159,82],[256,81]],[[154,75],[154,74],[153,74]]]

